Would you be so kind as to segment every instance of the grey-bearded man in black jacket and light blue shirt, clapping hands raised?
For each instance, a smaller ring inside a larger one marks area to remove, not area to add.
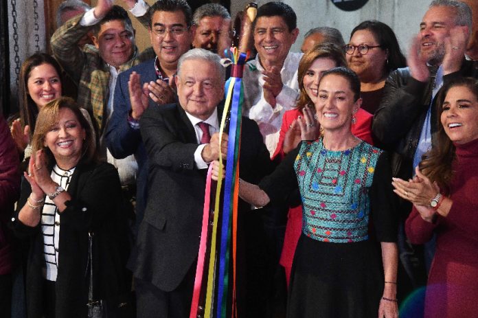
[[[471,30],[468,5],[453,0],[434,0],[422,22],[420,34],[409,52],[409,67],[392,72],[385,83],[383,100],[374,115],[373,133],[383,148],[394,152],[391,160],[394,177],[410,179],[422,155],[435,141],[438,128],[435,99],[440,88],[453,78],[473,76],[478,70],[466,60]],[[398,298],[405,299],[413,289],[426,283],[426,262],[433,258],[433,247],[411,245],[403,224],[411,204],[400,200],[398,247]]]

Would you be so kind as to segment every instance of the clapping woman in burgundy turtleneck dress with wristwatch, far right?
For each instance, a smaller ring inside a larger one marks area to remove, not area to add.
[[[395,192],[413,203],[409,240],[436,250],[425,294],[425,317],[478,317],[478,81],[458,78],[437,98],[437,138],[411,181]]]

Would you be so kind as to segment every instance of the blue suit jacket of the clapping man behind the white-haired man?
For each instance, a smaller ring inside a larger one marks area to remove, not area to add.
[[[106,127],[105,139],[106,146],[113,157],[121,159],[128,157],[129,155],[135,155],[135,159],[138,163],[138,174],[136,177],[136,224],[138,225],[143,218],[144,207],[146,205],[148,160],[139,129],[131,128],[128,123],[128,115],[131,110],[128,80],[133,71],[141,75],[141,85],[145,82],[155,81],[155,59],[153,58],[136,65],[135,67],[131,67],[127,71],[120,73],[117,77],[115,98],[113,101],[113,114],[111,115],[109,124]],[[155,103],[150,100],[150,106],[153,104],[155,105]]]

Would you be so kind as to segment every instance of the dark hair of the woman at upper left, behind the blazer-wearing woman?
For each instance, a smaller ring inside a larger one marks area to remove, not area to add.
[[[20,119],[23,126],[30,126],[30,135],[33,134],[36,124],[36,116],[38,115],[38,106],[30,97],[28,93],[28,78],[30,78],[30,73],[34,67],[42,64],[49,64],[54,67],[56,73],[58,73],[58,78],[62,83],[61,77],[61,67],[56,62],[52,56],[49,56],[45,53],[35,53],[23,62],[19,74],[19,108],[20,108]],[[32,137],[32,136],[30,136]]]

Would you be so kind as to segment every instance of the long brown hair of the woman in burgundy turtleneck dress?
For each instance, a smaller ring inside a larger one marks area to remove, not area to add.
[[[441,123],[443,113],[443,103],[446,94],[453,87],[466,87],[478,99],[478,80],[475,78],[457,78],[452,80],[440,91],[437,97],[437,137],[433,143],[433,147],[429,152],[426,152],[419,168],[422,173],[432,182],[438,183],[442,191],[446,193],[450,190],[451,179],[453,178],[453,161],[455,160],[455,145],[451,139],[446,135],[444,127]]]

